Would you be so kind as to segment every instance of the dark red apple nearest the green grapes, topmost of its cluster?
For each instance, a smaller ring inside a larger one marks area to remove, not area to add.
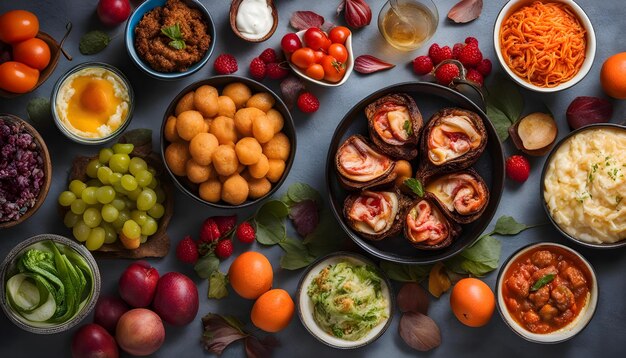
[[[130,264],[120,276],[120,296],[133,307],[148,307],[154,298],[159,272],[146,261]]]

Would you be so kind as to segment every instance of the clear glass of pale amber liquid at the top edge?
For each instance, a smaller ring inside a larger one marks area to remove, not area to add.
[[[422,46],[435,34],[438,23],[439,12],[432,0],[389,0],[378,14],[380,33],[403,51]]]

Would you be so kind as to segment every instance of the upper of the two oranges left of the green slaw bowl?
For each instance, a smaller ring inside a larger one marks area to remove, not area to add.
[[[272,287],[274,272],[267,257],[255,251],[239,255],[228,269],[230,285],[247,299],[256,299]]]

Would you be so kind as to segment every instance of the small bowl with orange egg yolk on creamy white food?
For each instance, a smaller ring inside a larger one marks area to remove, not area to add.
[[[51,102],[54,122],[65,136],[82,144],[101,144],[128,126],[134,94],[117,68],[88,62],[57,81]]]

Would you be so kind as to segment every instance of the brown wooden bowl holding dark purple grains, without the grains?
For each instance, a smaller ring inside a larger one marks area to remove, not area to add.
[[[46,196],[48,196],[48,191],[50,191],[50,183],[52,181],[52,161],[50,161],[50,152],[48,152],[48,147],[46,146],[46,142],[44,142],[39,132],[33,126],[28,124],[25,120],[14,116],[12,114],[0,114],[0,118],[4,119],[8,122],[18,123],[26,132],[33,136],[37,146],[39,147],[39,152],[43,158],[43,171],[44,171],[44,183],[39,190],[39,194],[37,195],[37,200],[35,201],[35,205],[32,208],[28,209],[24,215],[20,216],[19,219],[7,222],[0,222],[0,229],[6,229],[18,225],[24,221],[26,221],[31,215],[33,215],[46,200]]]

